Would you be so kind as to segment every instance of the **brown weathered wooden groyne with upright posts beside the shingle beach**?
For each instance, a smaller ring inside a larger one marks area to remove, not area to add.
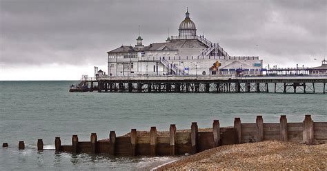
[[[156,127],[150,128],[149,136],[138,136],[132,129],[128,136],[117,137],[110,131],[109,141],[98,141],[97,134],[90,135],[90,141],[79,141],[72,136],[72,145],[61,145],[59,137],[55,139],[56,152],[107,153],[117,156],[166,156],[177,154],[195,154],[220,145],[250,143],[265,140],[293,141],[297,143],[327,143],[327,122],[314,122],[306,115],[303,122],[288,123],[286,116],[279,123],[264,123],[257,116],[255,123],[241,123],[235,118],[234,126],[220,127],[219,121],[212,123],[212,131],[201,132],[196,122],[190,126],[190,132],[179,132],[176,125],[170,125],[167,136],[159,136]],[[38,146],[39,148],[39,146]],[[41,149],[41,148],[40,148]]]

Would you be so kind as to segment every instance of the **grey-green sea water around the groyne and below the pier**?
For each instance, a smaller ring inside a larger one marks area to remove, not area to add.
[[[88,141],[92,132],[107,139],[110,130],[119,136],[131,128],[168,130],[171,123],[185,129],[192,121],[210,128],[213,119],[228,126],[235,117],[255,122],[258,114],[267,122],[279,122],[281,114],[294,122],[303,121],[304,114],[327,121],[327,94],[71,93],[72,83],[77,81],[0,81],[0,143],[10,145],[0,148],[0,170],[137,170],[172,159],[37,152],[37,139],[54,148],[54,137],[70,145],[72,134],[80,141]],[[18,150],[18,141],[25,141],[26,150]]]

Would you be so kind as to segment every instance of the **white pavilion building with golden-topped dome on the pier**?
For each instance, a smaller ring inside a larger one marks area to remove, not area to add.
[[[179,24],[178,36],[161,43],[144,46],[139,35],[137,44],[121,46],[108,52],[108,74],[111,76],[147,75],[261,75],[259,57],[230,56],[219,43],[197,35],[195,23],[186,12]]]

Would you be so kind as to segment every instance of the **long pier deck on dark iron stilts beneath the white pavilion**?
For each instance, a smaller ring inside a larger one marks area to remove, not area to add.
[[[326,94],[327,76],[101,76],[83,80],[86,91],[169,93],[319,93]],[[317,86],[322,90],[317,90]]]

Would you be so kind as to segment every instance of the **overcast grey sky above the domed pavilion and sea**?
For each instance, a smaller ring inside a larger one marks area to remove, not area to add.
[[[109,50],[178,34],[186,7],[197,34],[264,67],[320,66],[327,1],[0,0],[0,80],[79,79],[107,70]],[[315,60],[317,59],[317,60]]]

